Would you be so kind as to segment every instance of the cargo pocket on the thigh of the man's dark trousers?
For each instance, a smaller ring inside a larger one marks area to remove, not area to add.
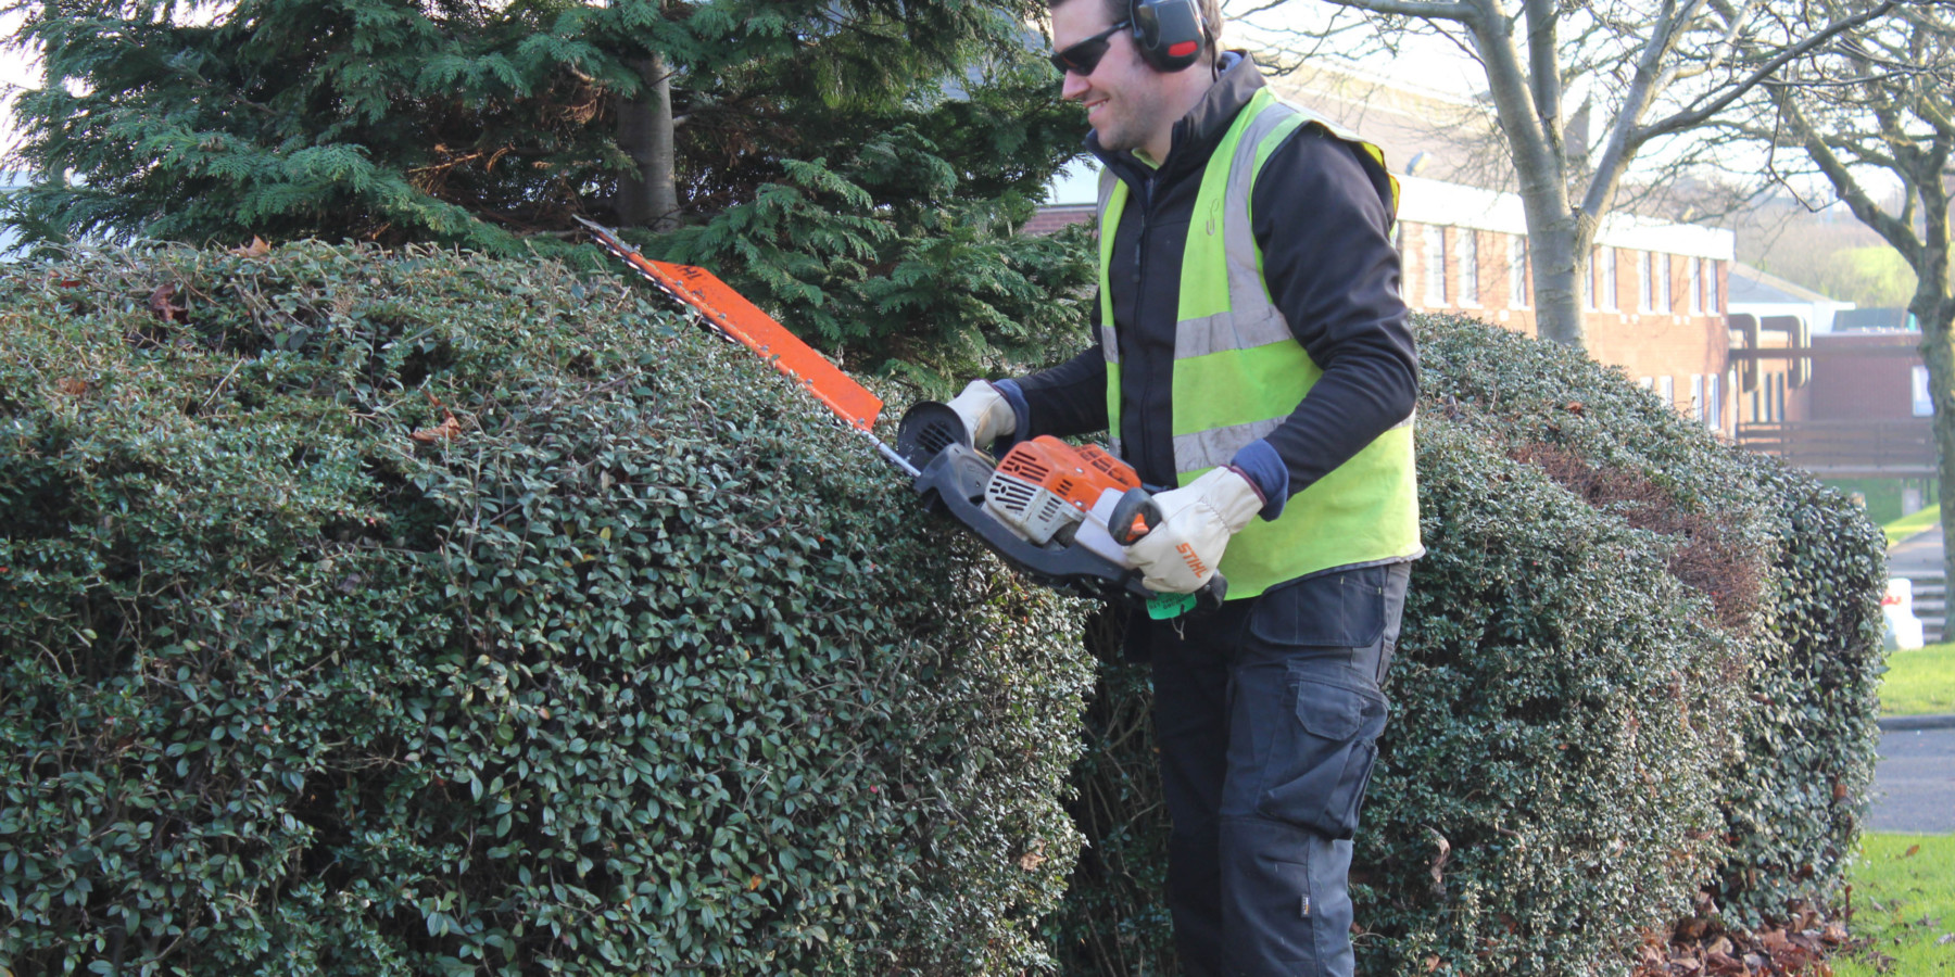
[[[1255,811],[1327,838],[1357,830],[1359,805],[1378,760],[1384,696],[1290,672],[1294,723],[1284,723],[1263,772]]]

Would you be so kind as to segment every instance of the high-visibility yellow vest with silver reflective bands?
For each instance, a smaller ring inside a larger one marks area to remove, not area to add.
[[[1302,125],[1322,125],[1384,166],[1378,147],[1275,98],[1267,88],[1236,115],[1202,172],[1181,258],[1173,369],[1179,485],[1230,463],[1243,446],[1277,430],[1324,375],[1269,299],[1249,215],[1255,176]],[[1126,197],[1126,184],[1105,170],[1099,207],[1101,348],[1107,354],[1107,416],[1114,453],[1120,453],[1120,342],[1108,268]],[[1392,213],[1398,213],[1398,180],[1392,180]],[[1284,580],[1335,567],[1417,557],[1423,547],[1412,422],[1406,416],[1316,485],[1292,494],[1277,520],[1249,520],[1222,555],[1228,598],[1253,598]]]

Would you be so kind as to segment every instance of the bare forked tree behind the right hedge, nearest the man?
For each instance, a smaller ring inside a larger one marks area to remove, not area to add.
[[[1896,2],[1810,23],[1750,59],[1754,31],[1785,23],[1765,16],[1769,0],[1324,0],[1367,14],[1382,35],[1408,23],[1437,31],[1484,68],[1527,213],[1537,328],[1576,348],[1586,344],[1589,248],[1638,156],[1689,152],[1677,149],[1683,137]],[[1589,125],[1599,129],[1593,145]]]

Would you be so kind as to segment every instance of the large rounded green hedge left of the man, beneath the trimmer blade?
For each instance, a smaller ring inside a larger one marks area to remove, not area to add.
[[[637,285],[0,276],[0,969],[1038,965],[1079,614]]]

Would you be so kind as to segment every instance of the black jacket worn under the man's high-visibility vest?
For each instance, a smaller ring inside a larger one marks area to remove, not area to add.
[[[1208,96],[1175,123],[1173,149],[1159,170],[1130,152],[1107,152],[1097,133],[1087,135],[1087,149],[1130,191],[1110,274],[1120,336],[1120,434],[1126,461],[1150,485],[1175,485],[1171,377],[1189,215],[1208,158],[1257,88],[1263,76],[1255,63],[1226,55]],[[1388,176],[1318,127],[1300,127],[1257,176],[1251,209],[1269,293],[1296,342],[1324,367],[1296,412],[1267,438],[1288,485],[1259,485],[1265,494],[1282,492],[1265,514],[1273,516],[1282,498],[1406,420],[1417,401],[1419,356],[1400,299],[1388,199]],[[1107,360],[1099,330],[1093,332],[1095,346],[1085,354],[1017,379],[1030,414],[1021,418],[1021,438],[1107,428]]]

